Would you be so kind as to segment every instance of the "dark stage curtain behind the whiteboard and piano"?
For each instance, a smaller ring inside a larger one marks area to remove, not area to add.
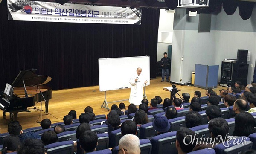
[[[12,84],[20,70],[32,68],[52,77],[48,85],[55,90],[99,85],[99,58],[149,55],[155,78],[159,12],[144,8],[141,25],[8,21],[3,0],[0,89]]]

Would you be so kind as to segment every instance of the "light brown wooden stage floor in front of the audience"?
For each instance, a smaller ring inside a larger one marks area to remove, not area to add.
[[[162,99],[170,98],[170,92],[164,91],[163,87],[172,86],[169,82],[160,82],[161,77],[150,80],[150,85],[146,87],[146,96],[150,101],[155,96],[160,96]],[[194,91],[198,90],[202,93],[202,96],[205,96],[205,89],[201,89],[194,86],[179,86],[178,89],[181,89],[179,92],[180,96],[182,93],[189,93],[191,95],[190,99],[194,97]],[[214,91],[219,94],[218,90],[226,89],[227,87],[218,86]],[[130,88],[122,90],[112,90],[107,91],[106,100],[108,102],[129,99]],[[176,94],[176,97],[179,97]],[[99,86],[93,87],[81,87],[65,90],[55,90],[52,92],[52,99],[49,100],[49,114],[42,113],[42,119],[49,118],[52,123],[63,122],[63,117],[68,114],[70,110],[76,110],[77,118],[81,113],[84,112],[84,108],[91,106],[96,115],[99,114],[108,114],[108,110],[101,108],[101,105],[104,101],[104,92],[99,91]],[[126,108],[129,105],[128,100],[123,101],[126,105]],[[120,102],[109,103],[109,108],[111,105],[119,105]],[[162,102],[163,103],[163,102]],[[40,109],[40,103],[36,105],[37,109]],[[33,107],[28,108],[31,112],[20,112],[18,113],[18,121],[22,125],[23,129],[38,127],[40,124],[37,123],[41,121],[39,110],[34,110]],[[44,102],[42,104],[42,110],[45,110]],[[39,118],[39,119],[38,119]],[[8,128],[9,113],[6,113],[6,119],[3,119],[1,112],[0,115],[0,132],[6,133]]]

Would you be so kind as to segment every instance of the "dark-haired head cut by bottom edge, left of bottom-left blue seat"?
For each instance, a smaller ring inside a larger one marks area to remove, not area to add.
[[[26,139],[21,142],[17,154],[46,154],[46,152],[40,139]]]

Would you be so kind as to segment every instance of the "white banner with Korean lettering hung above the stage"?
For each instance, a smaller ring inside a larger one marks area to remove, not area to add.
[[[141,24],[141,9],[7,0],[8,20]]]

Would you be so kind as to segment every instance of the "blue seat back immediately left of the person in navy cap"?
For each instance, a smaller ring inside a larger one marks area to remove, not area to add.
[[[153,128],[152,122],[140,126],[140,139],[145,139],[157,134],[157,131]]]

